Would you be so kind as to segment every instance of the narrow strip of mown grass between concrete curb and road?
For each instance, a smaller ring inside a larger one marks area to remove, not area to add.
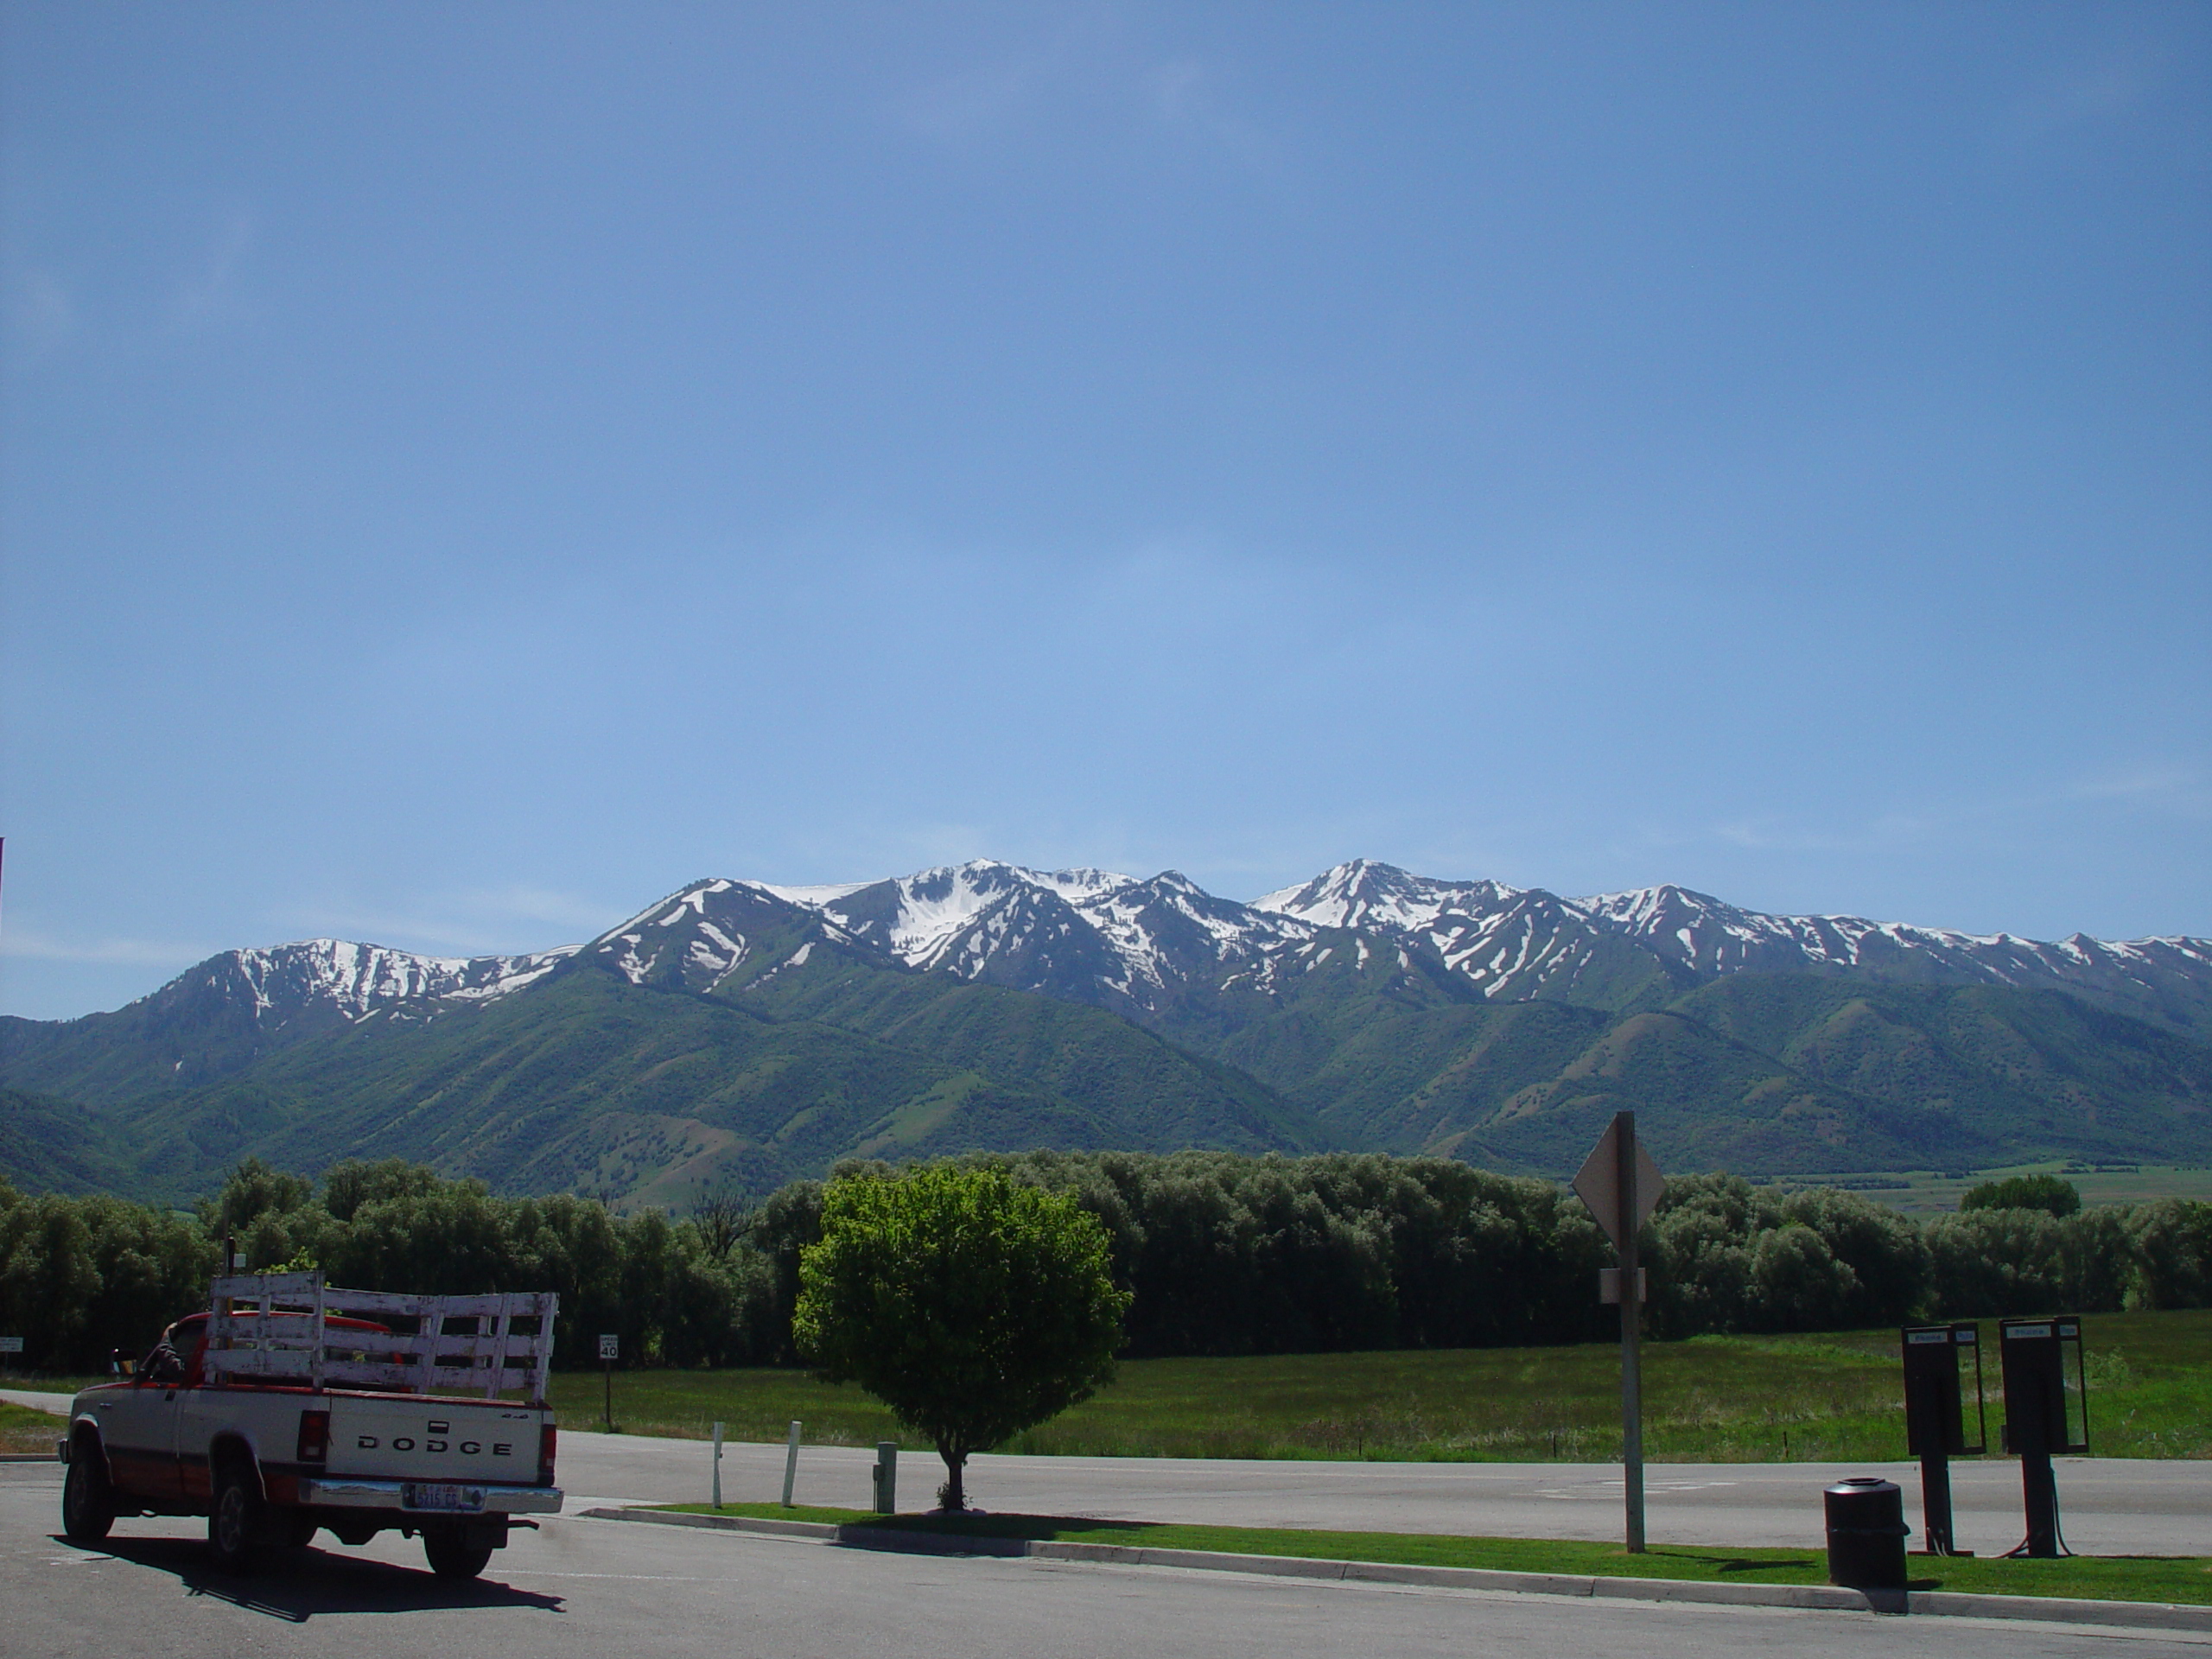
[[[876,1515],[867,1509],[783,1509],[781,1504],[655,1504],[679,1515],[745,1515],[830,1526],[933,1533],[940,1537],[1055,1540],[1130,1548],[1296,1555],[1321,1562],[1391,1566],[1475,1566],[1500,1573],[1690,1579],[1697,1584],[1827,1584],[1823,1551],[1705,1548],[1659,1544],[1630,1555],[1615,1544],[1553,1537],[1453,1537],[1444,1533],[1323,1533],[1276,1526],[1177,1526],[1170,1522],[1084,1520],[1068,1515]],[[2183,1601],[2212,1606],[2212,1559],[2197,1555],[2070,1555],[2057,1562],[1913,1555],[1916,1590],[1966,1595],[2062,1595],[2097,1601]]]

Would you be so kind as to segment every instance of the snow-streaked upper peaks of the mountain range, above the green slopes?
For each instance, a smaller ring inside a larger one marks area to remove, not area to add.
[[[2201,938],[2035,942],[1858,916],[1770,916],[1672,885],[1559,898],[1371,860],[1250,902],[1206,894],[1175,872],[1135,878],[993,860],[816,887],[714,878],[586,945],[434,958],[305,940],[210,958],[155,998],[212,995],[268,1029],[489,1002],[568,964],[633,984],[748,991],[805,969],[816,951],[1042,991],[1139,1024],[1192,1000],[1281,998],[1332,960],[1484,1002],[1628,1006],[1639,987],[1679,993],[1743,971],[1840,973],[2062,989],[2183,1031],[2212,1024],[2212,940]]]

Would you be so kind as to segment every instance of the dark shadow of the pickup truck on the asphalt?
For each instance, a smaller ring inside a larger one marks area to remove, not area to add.
[[[80,1548],[60,1533],[53,1535],[53,1542],[62,1548]],[[330,1555],[316,1548],[292,1551],[290,1557],[279,1557],[252,1577],[217,1571],[208,1562],[208,1546],[190,1537],[111,1537],[95,1553],[157,1573],[173,1573],[184,1584],[186,1595],[208,1595],[285,1624],[307,1624],[307,1619],[330,1613],[453,1608],[562,1613],[566,1606],[557,1595],[513,1590],[498,1579],[440,1579],[420,1568],[361,1555]]]

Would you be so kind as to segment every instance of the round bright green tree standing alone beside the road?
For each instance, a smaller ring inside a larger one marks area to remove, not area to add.
[[[1075,1199],[1004,1170],[929,1166],[823,1190],[799,1263],[799,1352],[858,1383],[945,1458],[945,1509],[967,1509],[971,1451],[1057,1416],[1113,1376],[1130,1296],[1106,1228]]]

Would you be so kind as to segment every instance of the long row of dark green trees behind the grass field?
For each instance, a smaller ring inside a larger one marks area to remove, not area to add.
[[[1606,1338],[1610,1248],[1548,1181],[1451,1159],[1230,1152],[973,1157],[1073,1199],[1133,1292],[1126,1354],[1495,1347]],[[883,1166],[849,1166],[863,1170]],[[657,1365],[799,1363],[801,1252],[823,1186],[692,1217],[577,1197],[498,1199],[400,1161],[321,1186],[246,1164],[197,1214],[0,1183],[0,1334],[44,1371],[142,1352],[199,1305],[223,1237],[252,1267],[319,1265],[372,1290],[557,1290],[560,1354],[597,1332]],[[2212,1203],[1916,1221],[1851,1192],[1674,1179],[1646,1239],[1650,1332],[1798,1332],[2048,1310],[2212,1303]]]

